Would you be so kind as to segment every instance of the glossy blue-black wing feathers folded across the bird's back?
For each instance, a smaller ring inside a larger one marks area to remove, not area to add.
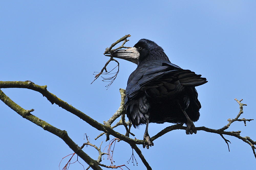
[[[162,63],[154,65],[152,63],[138,67],[129,77],[126,87],[126,99],[136,97],[140,92],[162,86],[166,82],[179,80],[182,86],[195,87],[205,84],[206,78],[195,74],[190,70],[183,70],[172,63]],[[176,86],[173,85],[175,88]]]

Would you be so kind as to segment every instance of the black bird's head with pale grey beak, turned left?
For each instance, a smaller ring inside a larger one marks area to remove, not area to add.
[[[105,56],[121,58],[137,65],[150,60],[169,61],[163,48],[158,46],[154,41],[147,39],[141,39],[133,46],[133,48],[116,50],[112,54]]]

